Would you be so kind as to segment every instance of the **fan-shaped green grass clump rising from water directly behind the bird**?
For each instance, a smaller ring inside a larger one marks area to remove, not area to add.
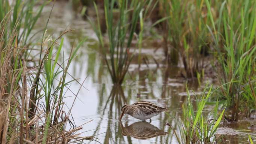
[[[114,8],[117,3],[117,8]],[[107,25],[108,46],[103,40],[100,28],[100,20],[96,4],[97,23],[92,24],[100,42],[101,52],[106,61],[113,83],[121,84],[127,73],[132,59],[131,43],[134,38],[135,29],[143,13],[143,7],[148,0],[104,0],[104,12]],[[114,19],[118,13],[118,19]],[[131,18],[130,18],[131,17]],[[141,23],[142,24],[142,23]],[[142,29],[143,30],[143,29]],[[140,34],[140,39],[142,38]]]

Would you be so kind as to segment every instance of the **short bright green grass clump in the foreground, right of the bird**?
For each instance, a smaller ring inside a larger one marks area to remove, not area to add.
[[[225,109],[218,114],[219,102],[216,101],[215,108],[211,113],[206,116],[203,114],[205,104],[212,94],[211,89],[212,86],[207,93],[204,89],[201,98],[197,99],[195,107],[187,89],[188,103],[182,105],[183,117],[178,124],[180,136],[173,129],[179,144],[216,144],[221,140],[220,137],[216,137],[215,132],[220,125]],[[170,124],[168,123],[168,125]]]

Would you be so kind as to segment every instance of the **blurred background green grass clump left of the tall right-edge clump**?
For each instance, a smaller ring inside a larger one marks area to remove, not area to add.
[[[197,77],[206,67],[210,39],[204,0],[159,1],[164,21],[164,52],[168,63],[184,66],[186,78]]]

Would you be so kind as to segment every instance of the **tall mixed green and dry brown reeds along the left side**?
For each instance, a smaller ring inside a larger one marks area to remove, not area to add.
[[[74,135],[82,127],[66,130],[71,122],[70,111],[63,111],[63,91],[70,83],[65,80],[67,69],[83,41],[71,48],[67,62],[59,64],[63,46],[61,36],[68,31],[54,39],[46,36],[45,27],[40,51],[35,49],[30,41],[31,30],[43,6],[39,6],[35,14],[33,3],[33,0],[16,0],[14,5],[0,2],[3,18],[0,24],[0,143],[52,144],[71,143],[73,139],[92,140],[92,137]],[[39,54],[35,54],[38,51]],[[34,56],[39,57],[39,61],[27,59]]]

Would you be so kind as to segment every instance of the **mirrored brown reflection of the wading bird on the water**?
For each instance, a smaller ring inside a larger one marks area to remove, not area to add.
[[[136,139],[148,139],[157,137],[159,135],[166,135],[167,132],[156,128],[155,126],[151,125],[149,122],[135,122],[131,125],[124,127],[121,124],[122,135],[124,136],[131,136]]]

